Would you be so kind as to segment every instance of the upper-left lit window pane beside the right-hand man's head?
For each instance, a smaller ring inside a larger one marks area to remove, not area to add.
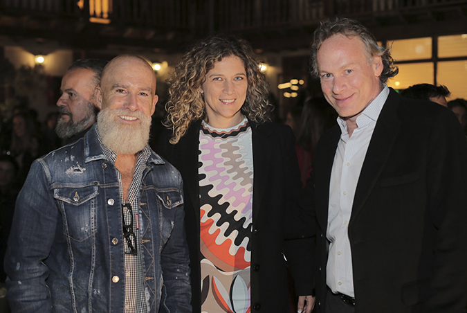
[[[396,61],[430,59],[431,43],[431,37],[394,40],[391,55]]]

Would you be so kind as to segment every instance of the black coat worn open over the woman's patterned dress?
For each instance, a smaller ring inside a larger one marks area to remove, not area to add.
[[[253,239],[251,254],[251,311],[288,312],[286,261],[295,274],[300,295],[312,291],[311,222],[297,211],[300,172],[290,127],[275,123],[252,127],[253,140]],[[199,129],[194,123],[176,145],[167,132],[158,152],[183,177],[185,227],[190,247],[193,312],[201,309],[199,252]]]

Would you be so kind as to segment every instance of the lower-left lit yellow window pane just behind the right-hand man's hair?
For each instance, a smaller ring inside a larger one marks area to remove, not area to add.
[[[433,83],[433,63],[398,64],[399,74],[389,80],[387,85],[394,89],[405,89],[412,84]]]

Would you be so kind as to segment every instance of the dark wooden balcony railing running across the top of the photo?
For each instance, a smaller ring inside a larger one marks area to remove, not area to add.
[[[389,15],[459,4],[465,6],[467,0],[0,0],[0,12],[205,32],[317,24],[335,15]]]

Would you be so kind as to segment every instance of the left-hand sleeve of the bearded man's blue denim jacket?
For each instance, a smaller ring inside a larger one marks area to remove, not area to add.
[[[5,271],[12,312],[52,312],[44,260],[53,244],[59,213],[42,163],[35,161],[17,197]]]

